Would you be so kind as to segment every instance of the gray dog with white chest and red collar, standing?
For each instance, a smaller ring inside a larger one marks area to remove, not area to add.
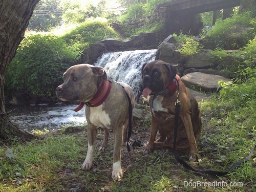
[[[104,152],[109,140],[109,131],[114,132],[114,154],[112,178],[123,177],[121,168],[121,145],[127,142],[129,126],[129,95],[132,109],[135,105],[134,92],[125,83],[110,81],[102,67],[79,64],[70,67],[63,74],[63,83],[56,89],[61,101],[80,101],[78,111],[86,104],[88,121],[88,151],[82,169],[90,169],[94,158],[97,128],[104,130],[104,138],[99,151]],[[126,93],[125,93],[126,92]]]

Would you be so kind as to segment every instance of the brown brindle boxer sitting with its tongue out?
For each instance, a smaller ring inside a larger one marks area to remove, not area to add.
[[[151,136],[143,153],[148,154],[158,147],[173,148],[176,90],[179,83],[181,105],[176,150],[189,152],[190,161],[200,160],[197,148],[201,133],[200,110],[197,100],[186,89],[176,73],[175,66],[162,60],[146,63],[142,67],[142,95],[144,97],[151,95],[152,112]],[[159,131],[160,138],[155,140],[157,131]]]

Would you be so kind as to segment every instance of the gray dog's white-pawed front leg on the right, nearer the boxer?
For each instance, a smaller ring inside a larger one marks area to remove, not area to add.
[[[123,177],[122,167],[121,167],[121,145],[122,145],[122,129],[120,126],[114,130],[114,153],[113,153],[113,171],[112,178],[115,180],[120,180]]]

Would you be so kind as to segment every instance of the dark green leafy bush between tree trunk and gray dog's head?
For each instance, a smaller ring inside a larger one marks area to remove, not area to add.
[[[80,57],[79,49],[54,35],[30,35],[19,45],[7,71],[6,88],[55,98],[62,74]]]

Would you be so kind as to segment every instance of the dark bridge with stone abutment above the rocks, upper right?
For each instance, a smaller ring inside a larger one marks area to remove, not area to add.
[[[180,31],[197,35],[203,27],[198,13],[225,10],[239,5],[240,0],[171,0],[157,5],[155,11],[164,25],[166,35]]]

